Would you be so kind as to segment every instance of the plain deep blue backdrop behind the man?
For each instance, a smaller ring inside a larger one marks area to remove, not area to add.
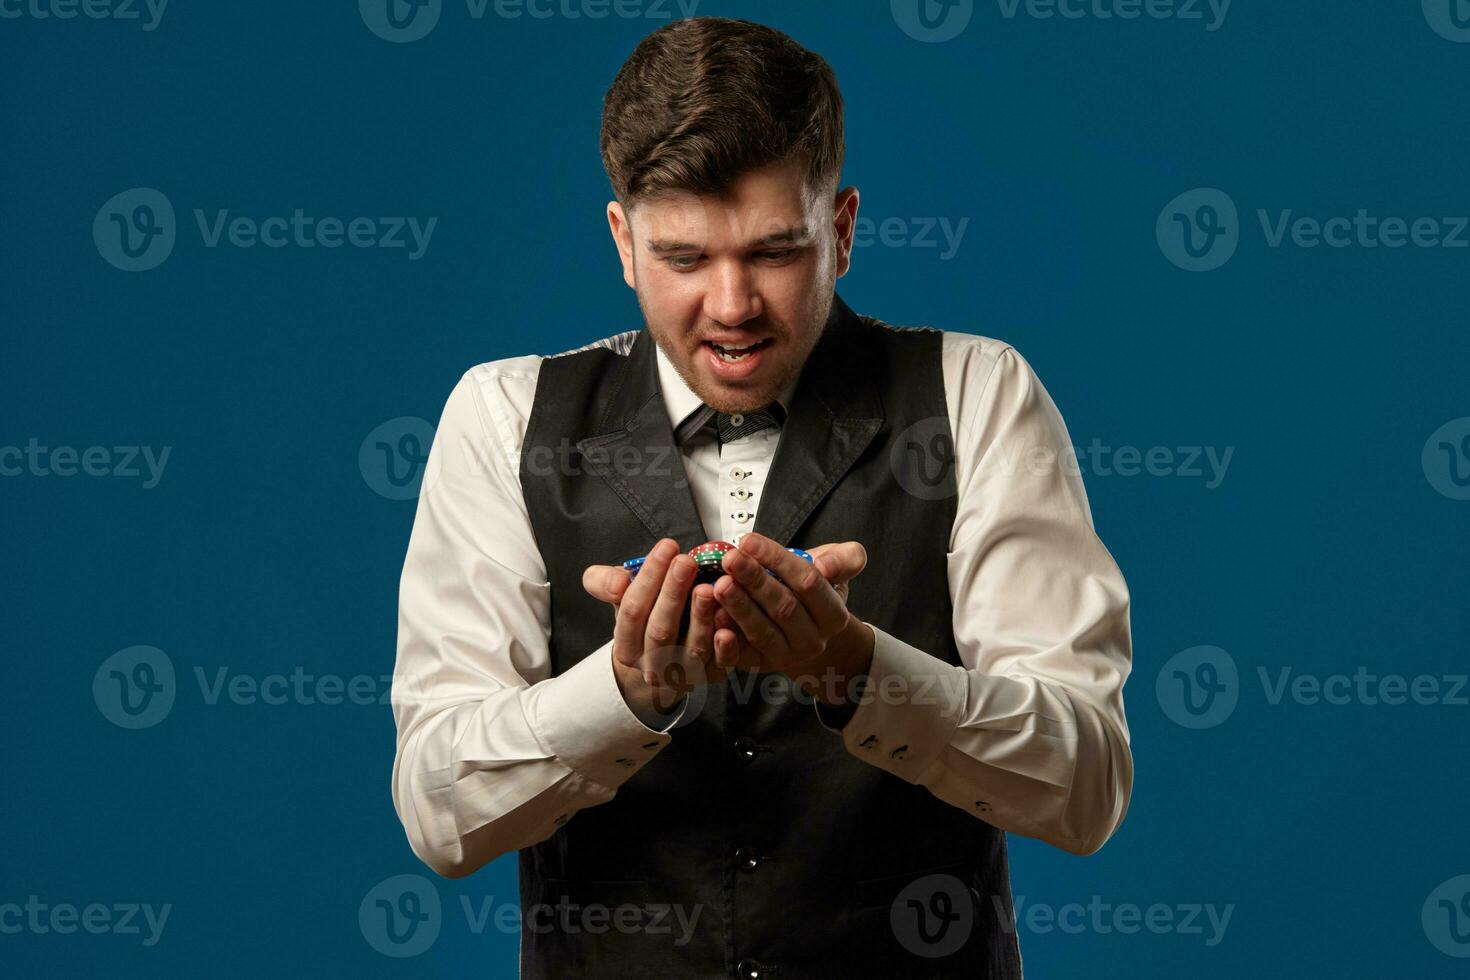
[[[154,31],[0,19],[0,445],[173,447],[153,489],[0,479],[0,904],[173,907],[151,948],[0,934],[4,973],[514,974],[517,937],[473,934],[459,908],[514,901],[513,857],[435,879],[442,930],[419,956],[359,927],[381,880],[434,879],[392,813],[387,705],[212,705],[194,676],[300,667],[381,693],[413,501],[373,491],[363,439],[432,423],[475,363],[641,325],[597,128],[666,19],[492,10],[445,0],[404,44],[350,0],[175,0]],[[857,311],[1014,344],[1078,445],[1235,447],[1214,488],[1085,470],[1133,597],[1132,808],[1091,858],[1011,837],[1026,905],[1233,904],[1229,929],[1214,946],[1208,927],[1066,934],[1028,929],[1023,905],[1028,976],[1464,976],[1420,911],[1470,873],[1470,708],[1273,705],[1257,669],[1464,673],[1470,502],[1420,454],[1470,416],[1470,250],[1272,248],[1255,212],[1470,213],[1470,44],[1417,0],[1236,0],[1217,31],[986,0],[944,43],[888,3],[697,12],[831,62],[861,216],[969,219],[948,260],[942,239],[860,247],[839,282]],[[168,195],[178,242],[129,273],[91,228],[134,187]],[[1191,273],[1154,229],[1198,187],[1233,198],[1241,242]],[[209,248],[193,219],[297,207],[438,223],[410,262]],[[168,654],[178,696],[125,730],[93,676],[140,644]],[[1155,696],[1197,645],[1227,651],[1241,685],[1200,730]]]

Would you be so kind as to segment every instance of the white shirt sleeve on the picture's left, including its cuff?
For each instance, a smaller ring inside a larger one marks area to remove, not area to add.
[[[392,801],[415,854],[448,877],[613,799],[679,717],[634,714],[610,639],[550,676],[551,586],[517,464],[528,370],[482,364],[450,394],[398,585]]]

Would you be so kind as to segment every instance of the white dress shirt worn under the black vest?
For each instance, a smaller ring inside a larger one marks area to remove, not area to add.
[[[1127,585],[1094,530],[1066,425],[1030,364],[985,336],[942,339],[958,488],[948,580],[963,666],[873,627],[863,702],[841,730],[828,727],[850,754],[978,818],[1091,854],[1123,820],[1133,782]],[[657,359],[678,428],[701,403],[662,350]],[[451,877],[613,799],[679,738],[678,714],[639,718],[628,707],[612,639],[551,676],[551,586],[519,479],[541,361],[478,364],[450,392],[400,582],[394,807],[415,854]],[[707,530],[734,541],[754,526],[778,441],[766,429],[723,447],[700,435],[681,445]],[[863,752],[873,733],[908,752]]]

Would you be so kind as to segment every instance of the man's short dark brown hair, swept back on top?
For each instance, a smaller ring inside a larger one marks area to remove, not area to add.
[[[625,209],[666,191],[725,194],[772,163],[835,192],[842,94],[832,68],[750,21],[689,18],[634,48],[603,98],[603,167]]]

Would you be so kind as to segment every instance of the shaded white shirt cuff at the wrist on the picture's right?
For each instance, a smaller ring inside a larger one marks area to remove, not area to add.
[[[851,755],[919,783],[939,760],[964,716],[969,676],[867,623],[873,630],[873,663],[857,695],[851,720],[841,726]],[[841,721],[841,705],[817,707],[817,721]]]

